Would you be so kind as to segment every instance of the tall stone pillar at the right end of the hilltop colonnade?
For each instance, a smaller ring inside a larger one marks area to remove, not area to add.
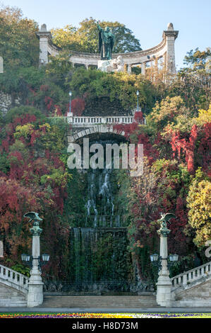
[[[172,23],[169,23],[167,26],[167,30],[163,32],[163,38],[167,43],[167,57],[166,57],[166,68],[167,74],[176,74],[176,66],[175,66],[175,51],[174,51],[174,43],[178,36],[179,31],[174,30],[174,26]]]

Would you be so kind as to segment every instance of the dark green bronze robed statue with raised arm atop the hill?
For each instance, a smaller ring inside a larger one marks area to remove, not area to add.
[[[97,29],[99,30],[99,52],[101,60],[111,60],[112,50],[114,48],[114,34],[111,33],[109,27],[101,28],[97,22]]]

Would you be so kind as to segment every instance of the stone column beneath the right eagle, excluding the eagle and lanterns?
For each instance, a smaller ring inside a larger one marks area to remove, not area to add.
[[[162,268],[159,271],[159,278],[157,279],[157,304],[164,307],[171,307],[171,280],[169,278],[169,269],[167,267],[168,257],[168,244],[167,236],[170,230],[163,226],[158,230],[160,235],[160,248],[159,255],[161,256]]]

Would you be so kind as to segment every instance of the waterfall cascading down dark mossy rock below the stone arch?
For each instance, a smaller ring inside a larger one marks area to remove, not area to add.
[[[106,142],[100,142],[105,145]],[[109,143],[114,143],[109,141]],[[114,169],[89,169],[85,219],[72,228],[75,282],[126,280],[126,226],[115,206]]]

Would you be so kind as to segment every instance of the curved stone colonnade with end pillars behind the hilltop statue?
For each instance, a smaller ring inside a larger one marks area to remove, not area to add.
[[[176,73],[175,66],[175,51],[174,42],[178,36],[179,31],[174,30],[172,23],[169,23],[167,30],[162,33],[162,41],[150,49],[126,52],[126,53],[114,53],[113,59],[121,55],[127,71],[130,74],[131,68],[139,65],[141,72],[145,75],[146,64],[151,64],[158,68],[158,60],[162,58],[163,66],[168,74]],[[49,62],[49,55],[59,55],[61,51],[60,47],[57,47],[52,43],[52,34],[47,31],[47,26],[43,24],[40,31],[36,33],[37,38],[40,39],[40,64],[47,64]],[[98,67],[98,61],[100,60],[100,54],[98,53],[83,53],[71,51],[70,62],[73,64],[83,64],[87,69],[88,67]]]

